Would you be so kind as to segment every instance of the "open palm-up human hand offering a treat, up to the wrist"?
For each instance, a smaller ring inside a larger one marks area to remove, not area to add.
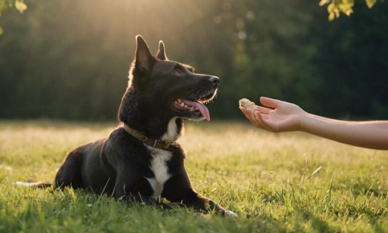
[[[302,118],[307,115],[298,105],[261,97],[261,104],[256,111],[240,107],[240,110],[256,127],[271,132],[286,132],[301,130]],[[274,108],[274,109],[272,109]]]

